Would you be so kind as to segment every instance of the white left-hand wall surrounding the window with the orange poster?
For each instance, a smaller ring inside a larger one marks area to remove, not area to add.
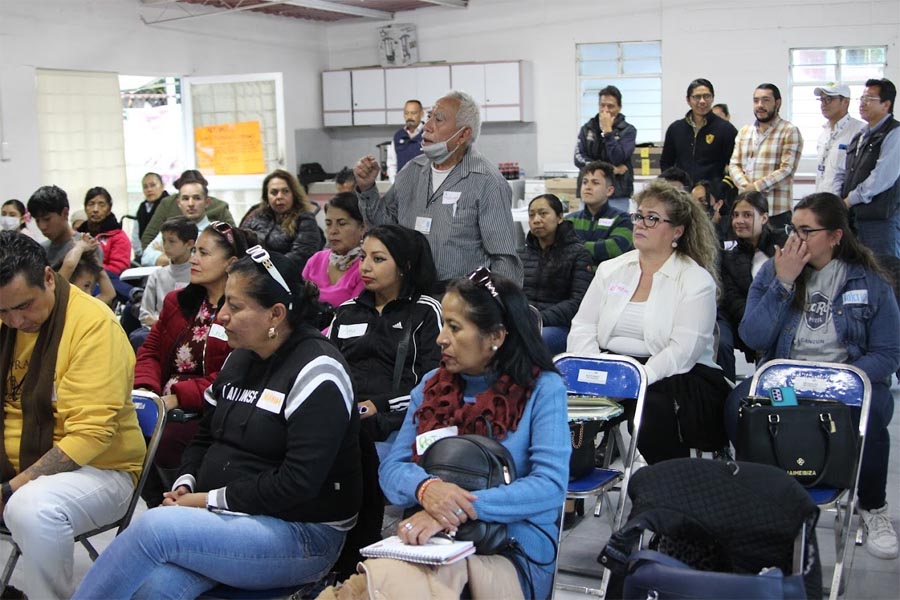
[[[0,125],[7,142],[3,156],[9,159],[0,162],[0,198],[26,201],[38,186],[50,183],[39,180],[37,68],[150,76],[280,71],[289,132],[286,164],[294,168],[292,132],[321,126],[325,28],[247,12],[153,26],[140,20],[161,13],[139,0],[0,2]],[[169,7],[165,17],[183,14]]]

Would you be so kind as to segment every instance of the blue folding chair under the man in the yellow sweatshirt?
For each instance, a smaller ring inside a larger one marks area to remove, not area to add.
[[[131,494],[131,500],[128,502],[128,508],[125,509],[125,514],[112,523],[75,536],[75,541],[80,542],[81,545],[84,546],[92,561],[97,560],[99,553],[91,544],[90,538],[115,528],[118,528],[116,535],[119,535],[129,524],[131,524],[131,518],[134,516],[134,509],[141,499],[141,490],[144,488],[144,482],[147,480],[147,473],[153,468],[153,457],[156,456],[156,448],[159,446],[163,427],[166,424],[166,408],[163,401],[159,399],[159,396],[156,396],[155,394],[145,395],[134,392],[131,399],[134,402],[134,409],[137,412],[138,424],[140,425],[141,432],[144,434],[144,437],[149,439],[147,443],[147,454],[144,456],[144,463],[141,466],[141,476],[138,478],[137,485],[134,486],[134,492]],[[9,585],[9,580],[12,577],[22,551],[13,541],[12,535],[5,527],[0,528],[0,540],[7,541],[12,546],[12,551],[9,553],[6,566],[3,568],[3,574],[0,575],[0,596],[2,596],[6,586]]]

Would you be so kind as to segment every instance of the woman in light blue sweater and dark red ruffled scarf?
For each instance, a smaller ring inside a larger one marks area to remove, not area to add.
[[[421,507],[400,522],[397,535],[424,544],[469,519],[507,523],[528,557],[507,557],[522,593],[549,598],[571,451],[565,386],[525,295],[508,279],[479,268],[448,286],[442,308],[441,366],[412,391],[406,420],[379,470],[391,503]],[[498,440],[512,454],[518,478],[475,493],[432,478],[417,464],[416,436],[451,426]]]

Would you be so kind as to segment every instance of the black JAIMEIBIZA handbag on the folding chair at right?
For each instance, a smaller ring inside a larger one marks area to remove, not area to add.
[[[834,400],[797,402],[773,407],[768,398],[744,398],[737,460],[779,467],[806,487],[851,487],[859,436],[850,407]]]

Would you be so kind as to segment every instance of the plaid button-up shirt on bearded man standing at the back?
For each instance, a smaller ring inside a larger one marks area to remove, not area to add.
[[[769,214],[791,210],[794,171],[803,152],[803,136],[789,121],[775,117],[764,132],[759,122],[744,125],[738,132],[728,172],[738,188],[751,186],[766,192]]]

